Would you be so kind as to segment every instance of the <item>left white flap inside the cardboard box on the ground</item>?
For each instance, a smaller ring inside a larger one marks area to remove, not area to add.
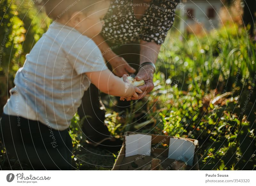
[[[150,156],[151,138],[152,136],[143,134],[125,136],[125,157],[137,154]]]

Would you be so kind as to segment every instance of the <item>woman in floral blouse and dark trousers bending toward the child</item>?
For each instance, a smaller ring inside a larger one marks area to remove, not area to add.
[[[172,27],[178,3],[179,0],[115,0],[104,18],[101,34],[93,38],[114,74],[121,77],[137,72],[135,78],[145,81],[145,85],[140,86],[143,93],[139,99],[154,88],[154,64],[161,44]],[[123,102],[118,106],[123,108],[127,105]],[[92,85],[82,98],[78,111],[80,117],[91,116],[84,120],[83,131],[95,145],[110,150],[120,149],[122,142],[109,138],[101,106],[99,90]]]

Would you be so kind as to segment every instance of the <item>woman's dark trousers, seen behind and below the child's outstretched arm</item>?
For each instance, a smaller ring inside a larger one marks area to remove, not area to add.
[[[112,46],[113,52],[115,52],[118,56],[124,58],[130,66],[136,69],[136,73],[139,69],[140,64],[140,45],[139,44],[126,44],[118,46],[117,48]],[[112,71],[111,66],[109,64],[108,68]],[[126,110],[130,103],[129,101],[120,101],[118,100],[118,110]],[[100,140],[109,137],[110,133],[108,131],[107,126],[104,124],[105,119],[105,111],[100,109],[102,103],[100,103],[100,91],[93,84],[90,85],[89,89],[84,92],[84,96],[82,98],[82,104],[78,108],[78,114],[81,118],[84,116],[86,119],[83,122],[83,132],[85,136],[93,142],[99,142]]]

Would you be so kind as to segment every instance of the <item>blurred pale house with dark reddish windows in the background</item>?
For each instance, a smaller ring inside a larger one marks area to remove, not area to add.
[[[180,11],[180,32],[198,34],[213,27],[218,28],[222,6],[221,0],[181,0],[177,6],[177,11]]]

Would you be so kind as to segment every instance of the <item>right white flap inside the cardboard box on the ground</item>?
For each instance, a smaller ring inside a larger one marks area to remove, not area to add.
[[[195,144],[185,139],[170,138],[168,158],[180,159],[193,166]]]

